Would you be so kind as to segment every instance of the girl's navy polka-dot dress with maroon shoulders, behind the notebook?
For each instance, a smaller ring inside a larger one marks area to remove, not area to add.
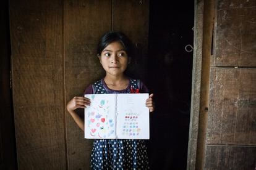
[[[113,94],[148,92],[139,79],[130,79],[121,91],[109,89],[104,79],[89,86],[84,94]],[[145,140],[94,139],[91,169],[149,169]]]

